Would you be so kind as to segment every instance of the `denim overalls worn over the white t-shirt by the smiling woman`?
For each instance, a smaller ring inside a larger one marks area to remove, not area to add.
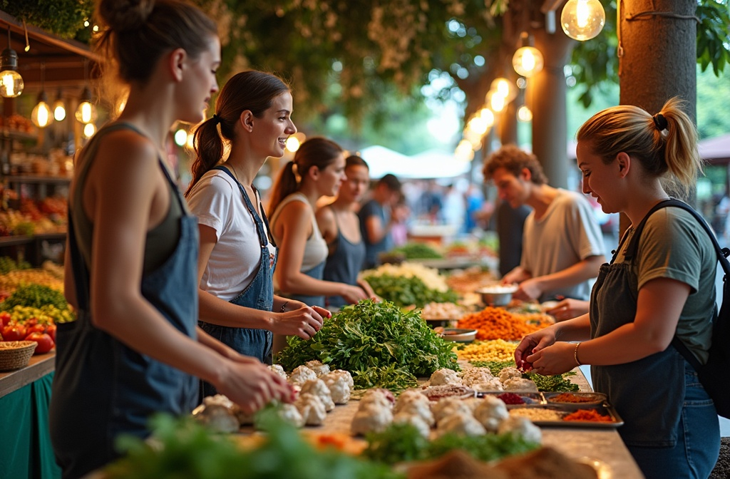
[[[264,215],[264,208],[261,208],[261,215],[263,219],[258,215],[253,203],[248,197],[245,189],[238,182],[234,175],[225,166],[216,166],[215,169],[225,172],[226,175],[233,179],[243,197],[248,211],[253,217],[253,221],[256,225],[256,231],[258,232],[258,240],[261,244],[261,262],[258,265],[258,270],[253,277],[253,280],[248,286],[234,299],[231,299],[231,303],[237,304],[238,306],[252,307],[257,310],[271,311],[274,305],[274,268],[277,262],[277,250],[274,249],[274,254],[269,253],[268,242],[270,241],[274,248],[276,244],[273,239],[269,238],[266,234],[269,231],[269,222],[266,220]],[[264,229],[264,224],[266,228]],[[215,339],[223,342],[237,352],[244,354],[245,356],[252,356],[265,364],[272,364],[272,332],[266,329],[253,329],[253,328],[237,328],[232,326],[220,326],[218,324],[207,323],[205,321],[199,321],[199,326],[204,332],[207,332]],[[217,391],[210,383],[205,381],[200,382],[201,394],[203,397],[212,396],[217,394]]]

